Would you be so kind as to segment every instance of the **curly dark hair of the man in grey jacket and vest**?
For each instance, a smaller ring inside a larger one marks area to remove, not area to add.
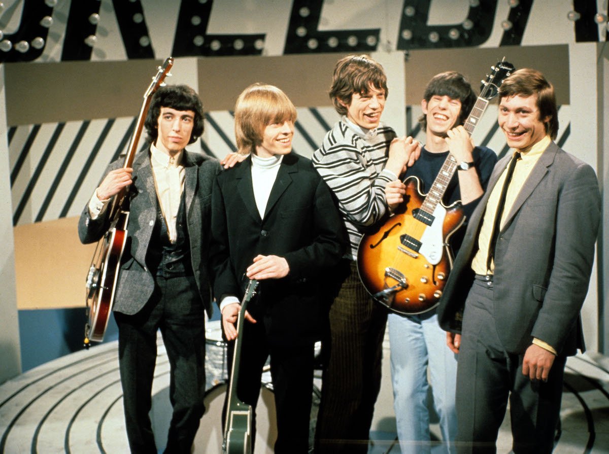
[[[169,107],[175,110],[192,110],[194,112],[194,127],[192,127],[191,138],[188,144],[194,144],[203,134],[203,105],[199,95],[188,85],[166,85],[157,89],[152,95],[148,113],[146,114],[147,141],[151,144],[157,142],[158,117],[161,107]]]

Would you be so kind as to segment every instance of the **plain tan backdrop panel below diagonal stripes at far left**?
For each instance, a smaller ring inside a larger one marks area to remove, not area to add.
[[[80,244],[77,225],[70,217],[13,229],[19,310],[85,307],[95,244]]]

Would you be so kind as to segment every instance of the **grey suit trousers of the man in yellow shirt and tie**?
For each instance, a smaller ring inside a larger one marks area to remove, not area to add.
[[[513,452],[552,452],[566,358],[555,358],[545,383],[524,376],[524,352],[506,352],[499,340],[493,292],[492,285],[476,279],[465,302],[457,363],[459,453],[496,452],[508,399]]]

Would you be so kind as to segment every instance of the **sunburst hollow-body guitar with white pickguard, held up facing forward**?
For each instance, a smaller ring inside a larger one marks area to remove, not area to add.
[[[499,61],[482,81],[481,94],[463,127],[472,133],[488,103],[497,96],[513,65]],[[364,235],[357,250],[357,270],[368,293],[393,312],[417,314],[434,309],[452,268],[448,240],[465,222],[460,202],[442,203],[457,161],[448,155],[428,194],[415,176],[404,180],[406,194],[395,214]]]

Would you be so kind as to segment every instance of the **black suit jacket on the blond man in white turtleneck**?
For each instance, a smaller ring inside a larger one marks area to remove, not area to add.
[[[329,187],[309,159],[285,155],[264,217],[252,187],[252,158],[218,175],[212,195],[213,291],[241,298],[245,270],[258,254],[284,257],[290,272],[261,281],[248,309],[269,340],[284,345],[320,338],[329,297],[323,284],[347,238]]]

